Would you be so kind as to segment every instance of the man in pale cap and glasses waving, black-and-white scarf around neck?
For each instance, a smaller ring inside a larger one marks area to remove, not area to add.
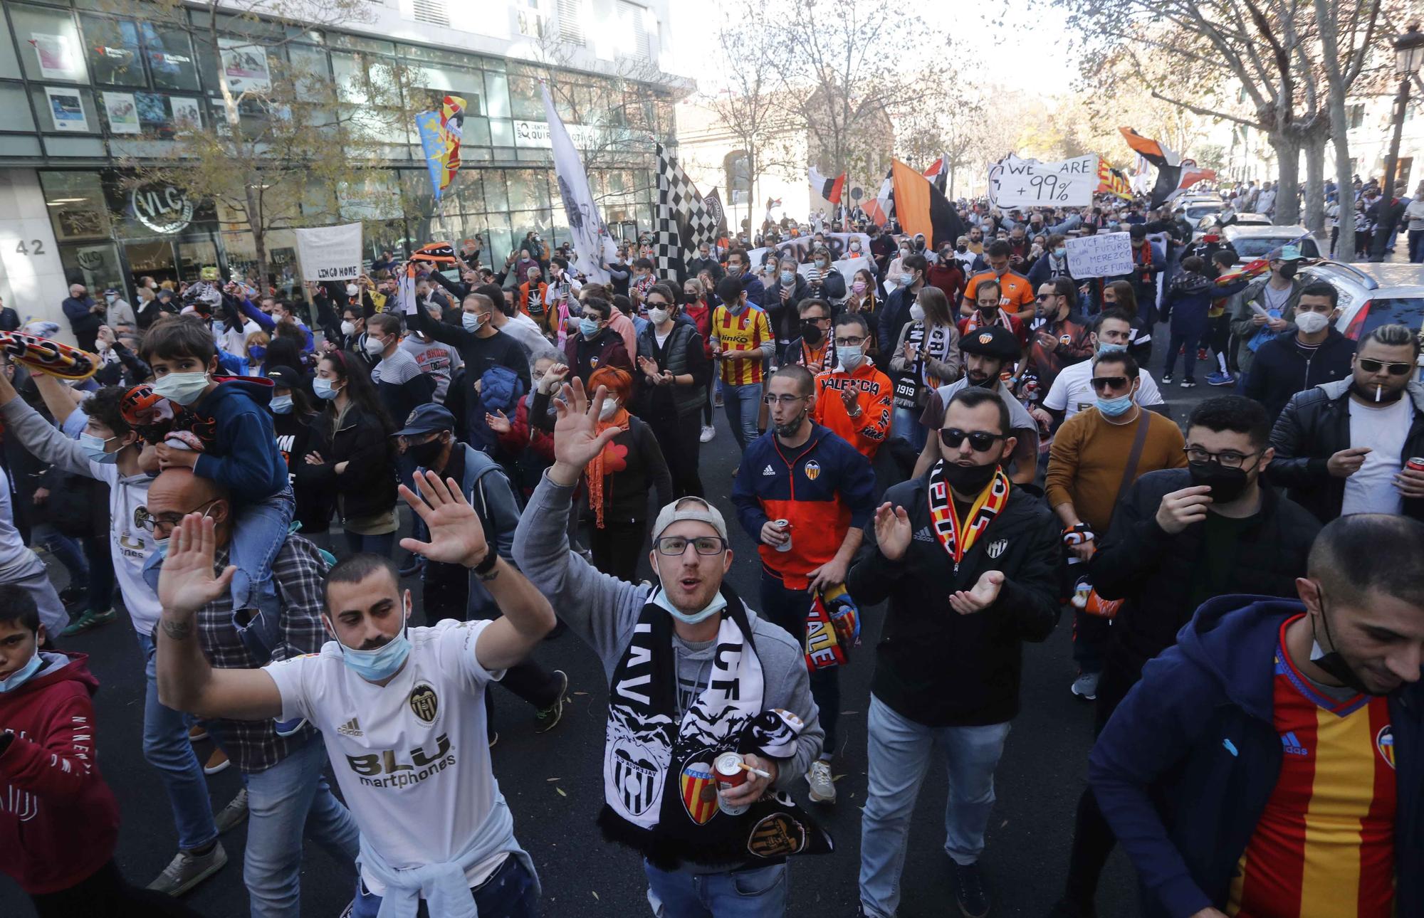
[[[787,790],[820,751],[805,655],[725,582],[726,522],[702,498],[658,514],[648,552],[658,586],[600,574],[570,551],[574,488],[612,438],[597,433],[605,394],[588,399],[575,380],[554,401],[554,464],[514,535],[520,571],[598,653],[609,680],[600,825],[642,855],[659,915],[785,915],[783,857],[799,848],[768,847],[753,830],[773,806],[763,793]],[[719,794],[711,763],[729,749],[758,771]],[[783,837],[819,838],[786,800],[775,817]]]

